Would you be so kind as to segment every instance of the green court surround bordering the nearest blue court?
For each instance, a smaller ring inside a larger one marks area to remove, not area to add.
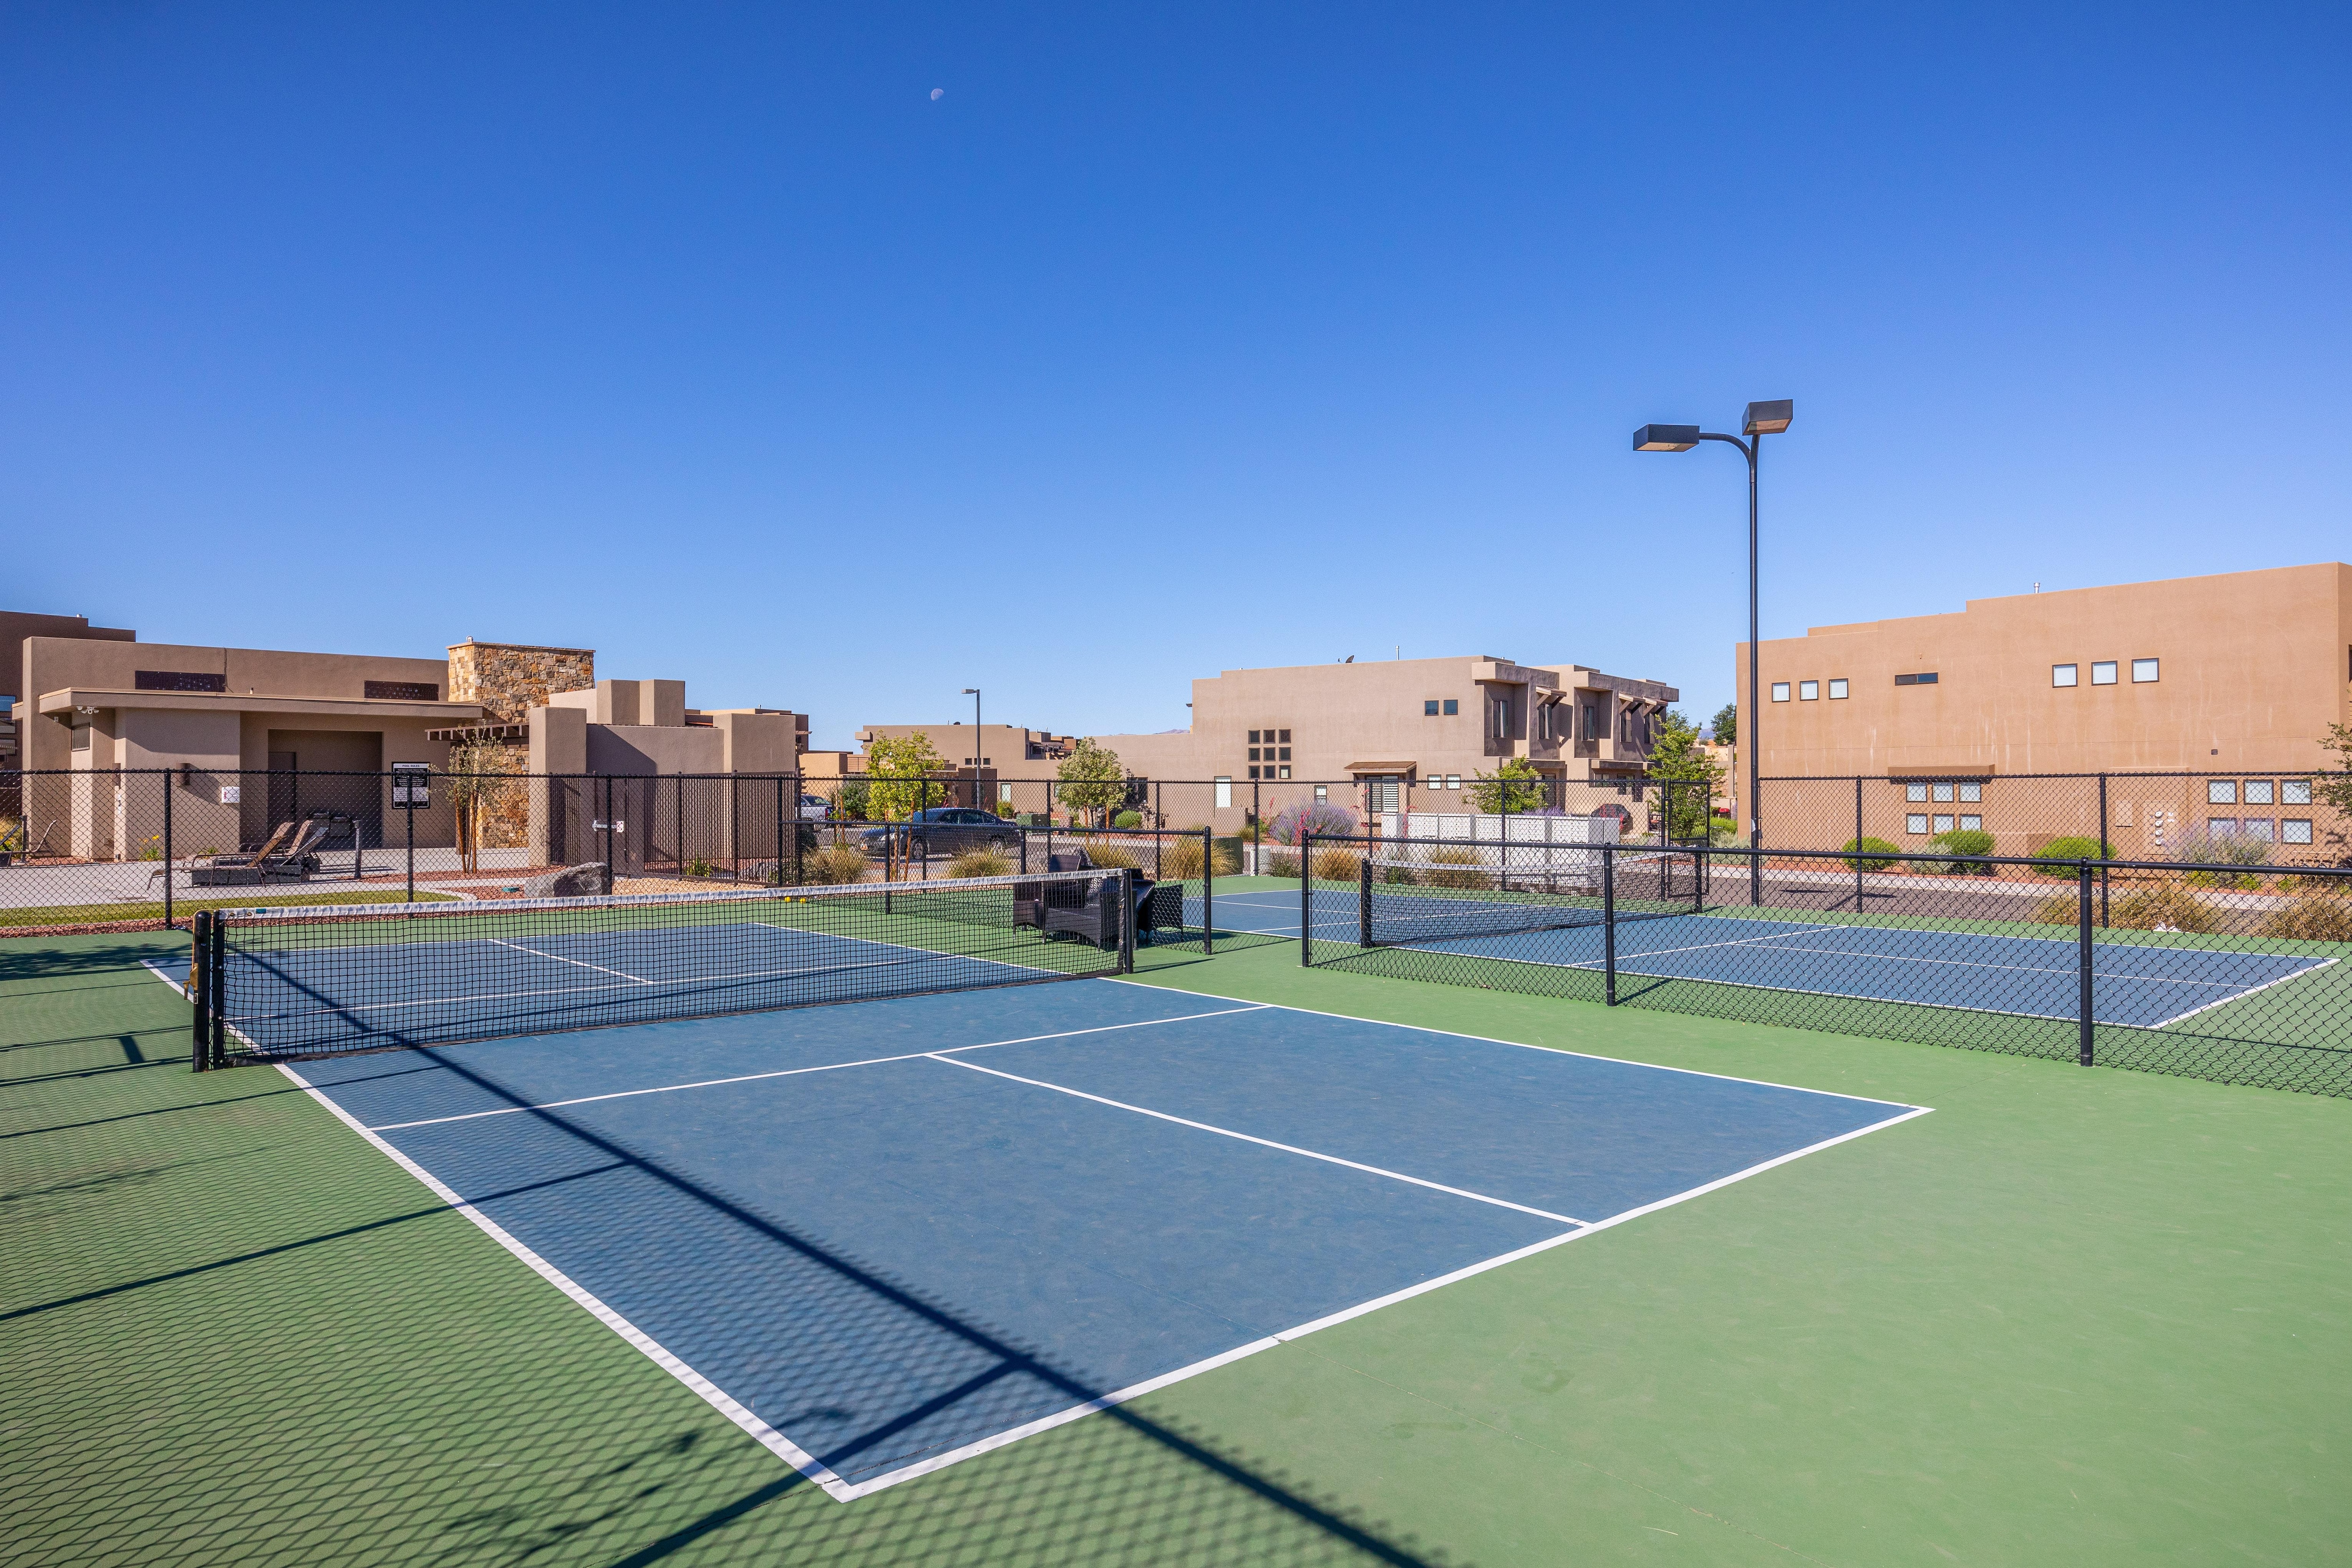
[[[2345,1100],[1164,954],[1933,1114],[842,1505],[191,1074],[169,947],[0,943],[5,1563],[2352,1561]]]

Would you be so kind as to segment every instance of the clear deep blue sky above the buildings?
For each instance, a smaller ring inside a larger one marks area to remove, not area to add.
[[[0,607],[1171,729],[2347,555],[2343,7],[0,14]],[[934,96],[941,89],[941,96]]]

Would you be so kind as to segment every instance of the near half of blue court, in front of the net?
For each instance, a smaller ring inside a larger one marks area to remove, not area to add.
[[[287,1072],[842,1500],[1922,1114],[1117,980]]]

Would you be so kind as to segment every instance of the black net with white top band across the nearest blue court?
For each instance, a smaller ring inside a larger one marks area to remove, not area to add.
[[[198,917],[198,1067],[1134,966],[1124,870]]]

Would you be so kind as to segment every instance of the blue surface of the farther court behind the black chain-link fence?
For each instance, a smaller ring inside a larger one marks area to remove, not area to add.
[[[1315,896],[1315,938],[1355,943],[1355,896]],[[1472,903],[1472,907],[1477,907]],[[1515,905],[1494,905],[1508,914]],[[1244,893],[1216,900],[1218,929],[1298,936],[1296,893]],[[1512,964],[1602,969],[1599,926],[1524,931],[1430,943],[1421,952],[1451,952]],[[2227,947],[2159,947],[2100,940],[2091,947],[2091,1011],[2096,1023],[2161,1030],[2223,1001],[2326,969],[2336,959]],[[1670,914],[1618,922],[1618,976],[1710,980],[1762,990],[1912,1001],[1922,1006],[2077,1018],[2079,952],[2074,936],[2002,936],[1903,926],[1759,919],[1752,914]]]

